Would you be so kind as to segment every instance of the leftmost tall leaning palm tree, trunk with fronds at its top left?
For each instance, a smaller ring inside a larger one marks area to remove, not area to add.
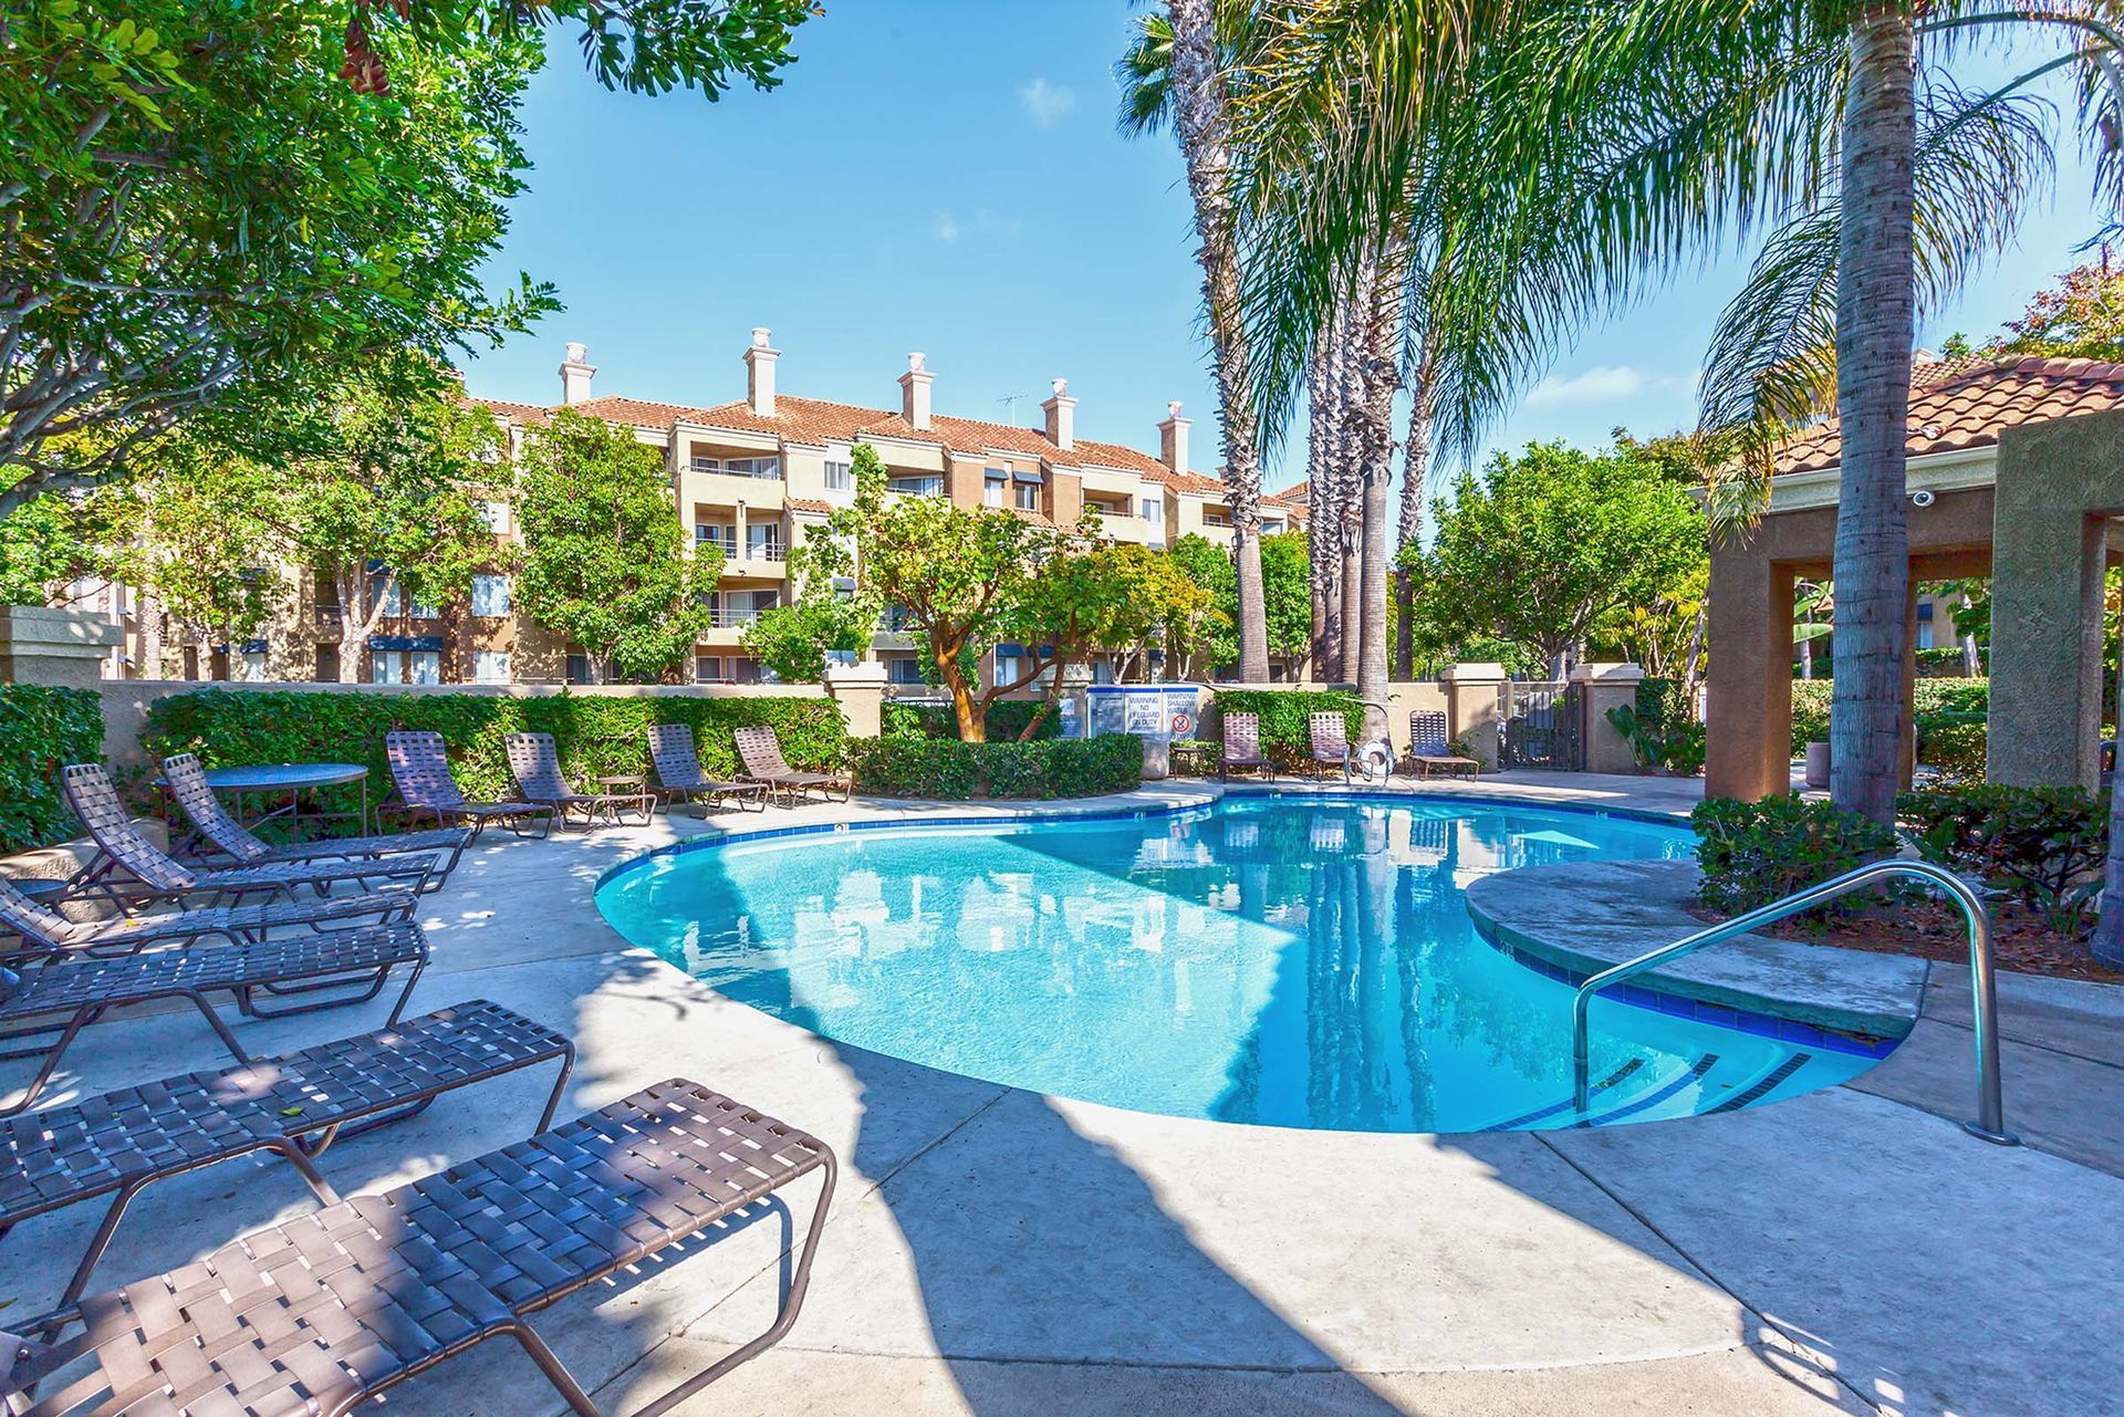
[[[1262,595],[1262,459],[1253,412],[1247,327],[1240,317],[1238,208],[1232,202],[1232,32],[1236,4],[1168,0],[1147,17],[1121,81],[1121,130],[1147,132],[1170,119],[1187,161],[1194,200],[1196,261],[1209,312],[1223,433],[1223,480],[1232,506],[1232,559],[1238,574],[1238,678],[1268,680],[1268,614]]]

